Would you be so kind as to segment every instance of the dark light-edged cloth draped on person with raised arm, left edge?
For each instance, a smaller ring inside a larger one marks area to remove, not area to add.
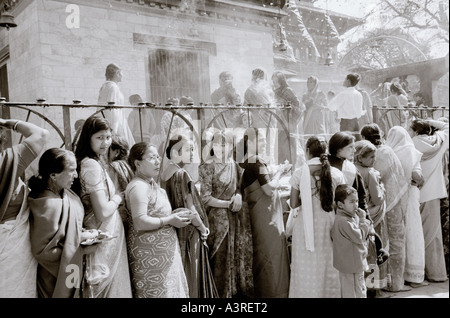
[[[19,155],[16,148],[8,148],[0,153],[0,221],[6,213],[16,188],[18,162]]]

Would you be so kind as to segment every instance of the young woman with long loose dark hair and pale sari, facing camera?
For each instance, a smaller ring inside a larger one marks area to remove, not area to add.
[[[84,226],[115,237],[102,242],[95,253],[87,256],[83,297],[131,297],[125,231],[118,211],[122,195],[116,193],[106,171],[105,157],[111,138],[108,120],[91,116],[83,124],[75,150],[81,186],[79,196],[85,210]]]

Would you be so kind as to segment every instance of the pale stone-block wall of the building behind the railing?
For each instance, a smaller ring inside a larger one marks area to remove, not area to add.
[[[120,86],[125,100],[131,94],[151,100],[149,48],[133,41],[137,33],[215,43],[216,54],[209,58],[211,91],[218,87],[218,75],[224,70],[234,74],[236,88],[243,96],[250,85],[252,69],[263,67],[268,74],[274,69],[271,25],[256,23],[247,27],[244,23],[223,23],[212,18],[193,23],[190,17],[174,14],[173,9],[141,10],[139,6],[114,1],[23,3],[27,5],[22,4],[15,16],[18,27],[9,33],[9,101],[35,102],[45,98],[47,103],[72,103],[78,99],[96,104],[105,81],[105,68],[113,62],[123,69]],[[79,28],[67,25],[71,12],[66,9],[74,3],[79,8]],[[194,37],[189,35],[191,28],[197,32]],[[60,108],[39,111],[63,129]],[[72,109],[72,126],[93,111]],[[14,114],[25,119],[25,112]],[[30,120],[51,130],[37,117]],[[60,146],[60,139],[52,135],[51,145]]]

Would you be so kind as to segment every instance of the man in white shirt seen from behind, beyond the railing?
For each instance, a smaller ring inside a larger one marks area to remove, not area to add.
[[[366,113],[363,108],[363,96],[356,89],[359,80],[358,74],[348,74],[343,83],[346,88],[328,104],[331,111],[337,112],[341,131],[359,132],[358,120]]]

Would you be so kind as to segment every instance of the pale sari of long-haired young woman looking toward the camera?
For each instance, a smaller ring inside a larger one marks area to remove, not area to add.
[[[84,226],[99,229],[115,236],[102,242],[93,254],[86,255],[86,275],[83,281],[82,297],[131,298],[131,282],[128,267],[125,231],[119,211],[100,222],[94,214],[90,194],[105,191],[108,200],[116,189],[102,164],[91,158],[84,158],[80,165],[81,201],[85,209]]]

